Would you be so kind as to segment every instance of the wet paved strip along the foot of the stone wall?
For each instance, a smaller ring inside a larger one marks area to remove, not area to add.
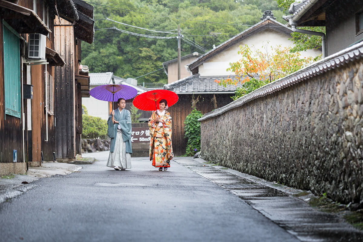
[[[363,241],[363,234],[337,216],[323,213],[286,193],[190,160],[180,165],[240,197],[300,241]]]

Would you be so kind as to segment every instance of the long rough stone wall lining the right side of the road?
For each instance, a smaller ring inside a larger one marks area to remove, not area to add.
[[[261,88],[240,106],[204,115],[201,157],[362,207],[363,58],[348,58],[334,69],[324,60],[321,73],[307,70],[303,81],[270,94],[275,87]]]

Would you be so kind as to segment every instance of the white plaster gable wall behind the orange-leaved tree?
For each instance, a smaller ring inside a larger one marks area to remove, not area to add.
[[[274,31],[272,29],[266,29],[260,33],[254,34],[253,36],[247,37],[244,40],[238,42],[237,44],[231,46],[230,48],[224,50],[223,52],[213,56],[202,65],[199,66],[199,74],[201,76],[216,76],[216,75],[231,75],[232,72],[226,71],[229,67],[230,62],[236,62],[241,59],[241,55],[238,54],[240,50],[240,45],[248,45],[252,50],[260,49],[265,51],[262,46],[293,46],[293,42],[290,41],[289,36],[282,34],[280,32]],[[268,48],[271,51],[270,48]],[[320,50],[307,50],[305,52],[300,52],[302,57],[313,56],[316,57],[322,52]]]

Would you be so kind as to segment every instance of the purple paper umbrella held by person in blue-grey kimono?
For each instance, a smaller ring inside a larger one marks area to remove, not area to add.
[[[134,98],[137,90],[127,85],[107,84],[94,87],[90,90],[90,95],[98,100],[117,102],[119,98]]]

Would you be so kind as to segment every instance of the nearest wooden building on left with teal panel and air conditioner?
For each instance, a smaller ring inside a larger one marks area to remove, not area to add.
[[[91,12],[93,17],[93,7]],[[55,159],[55,66],[68,66],[54,50],[56,18],[78,20],[72,0],[0,0],[0,175],[25,173],[28,166]],[[93,19],[87,21],[92,26],[91,37],[87,38],[93,40]],[[79,31],[85,34],[83,29]],[[44,56],[34,58],[29,54],[38,51]],[[74,59],[69,63],[75,63]],[[80,89],[81,84],[88,85],[80,83]],[[82,88],[87,89],[84,85]],[[70,104],[78,107],[78,103]]]

